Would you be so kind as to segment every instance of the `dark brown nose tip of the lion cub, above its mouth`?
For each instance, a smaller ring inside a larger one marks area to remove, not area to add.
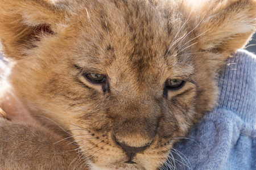
[[[123,150],[125,150],[128,154],[129,160],[127,160],[125,163],[128,164],[135,164],[135,162],[133,162],[133,157],[135,154],[137,154],[138,152],[142,152],[144,150],[146,150],[146,148],[149,145],[143,146],[143,147],[131,147],[131,146],[127,146],[122,142],[118,142],[117,143],[123,148]]]

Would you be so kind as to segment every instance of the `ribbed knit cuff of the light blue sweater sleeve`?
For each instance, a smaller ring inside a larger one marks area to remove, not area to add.
[[[218,87],[218,108],[233,111],[246,124],[256,126],[256,56],[238,50],[229,59]]]

